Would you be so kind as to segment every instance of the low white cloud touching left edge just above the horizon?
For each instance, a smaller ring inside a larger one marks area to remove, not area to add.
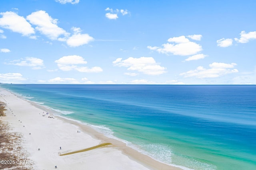
[[[1,83],[21,83],[26,78],[22,77],[20,73],[6,73],[0,74]]]

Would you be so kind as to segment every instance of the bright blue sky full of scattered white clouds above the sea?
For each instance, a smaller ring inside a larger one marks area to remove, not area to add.
[[[0,83],[256,84],[255,0],[1,0]]]

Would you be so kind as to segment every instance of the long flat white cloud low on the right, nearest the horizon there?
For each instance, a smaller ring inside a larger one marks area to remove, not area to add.
[[[184,77],[197,77],[197,78],[216,78],[225,74],[236,73],[237,69],[230,69],[236,66],[236,63],[212,63],[209,64],[210,68],[206,69],[203,66],[198,66],[195,70],[183,72],[180,76]]]

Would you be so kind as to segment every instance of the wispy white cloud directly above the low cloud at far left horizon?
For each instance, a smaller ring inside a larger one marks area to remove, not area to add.
[[[26,57],[25,59],[20,60],[14,60],[11,61],[10,63],[5,63],[5,64],[11,64],[11,65],[16,65],[16,66],[30,66],[32,69],[42,69],[44,66],[44,61],[42,59],[38,59],[35,57]]]

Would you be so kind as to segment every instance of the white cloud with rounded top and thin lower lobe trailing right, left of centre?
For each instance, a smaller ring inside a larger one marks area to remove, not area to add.
[[[60,70],[63,71],[76,70],[79,72],[102,72],[102,68],[98,66],[92,68],[78,66],[78,64],[87,64],[87,61],[84,61],[84,58],[78,55],[61,57],[60,59],[56,60],[55,63],[57,63]]]

